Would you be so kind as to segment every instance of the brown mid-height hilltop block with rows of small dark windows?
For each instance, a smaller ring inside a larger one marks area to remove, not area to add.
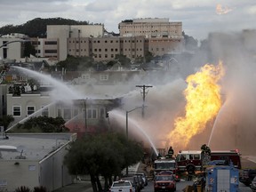
[[[92,56],[96,61],[115,60],[117,54],[125,55],[131,60],[144,57],[144,36],[112,36],[68,38],[68,55],[76,57]]]

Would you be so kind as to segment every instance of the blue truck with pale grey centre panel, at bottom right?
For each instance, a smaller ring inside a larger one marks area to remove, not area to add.
[[[230,162],[215,160],[205,170],[205,191],[237,192],[239,187],[239,170]]]

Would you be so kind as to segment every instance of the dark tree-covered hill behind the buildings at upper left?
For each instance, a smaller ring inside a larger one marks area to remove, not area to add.
[[[0,36],[11,33],[25,34],[29,37],[46,37],[47,25],[88,25],[88,21],[67,20],[62,18],[36,18],[22,25],[6,25],[0,28]]]

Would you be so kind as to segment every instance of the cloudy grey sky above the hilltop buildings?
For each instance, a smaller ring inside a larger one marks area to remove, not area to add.
[[[119,33],[122,20],[167,18],[198,40],[210,32],[256,28],[255,0],[0,0],[0,27],[35,18],[64,18],[104,24]]]

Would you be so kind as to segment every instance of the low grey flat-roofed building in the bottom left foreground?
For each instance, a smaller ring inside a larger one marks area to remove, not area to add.
[[[20,186],[47,191],[69,185],[75,175],[63,163],[68,145],[76,133],[7,133],[0,136],[1,190]]]

